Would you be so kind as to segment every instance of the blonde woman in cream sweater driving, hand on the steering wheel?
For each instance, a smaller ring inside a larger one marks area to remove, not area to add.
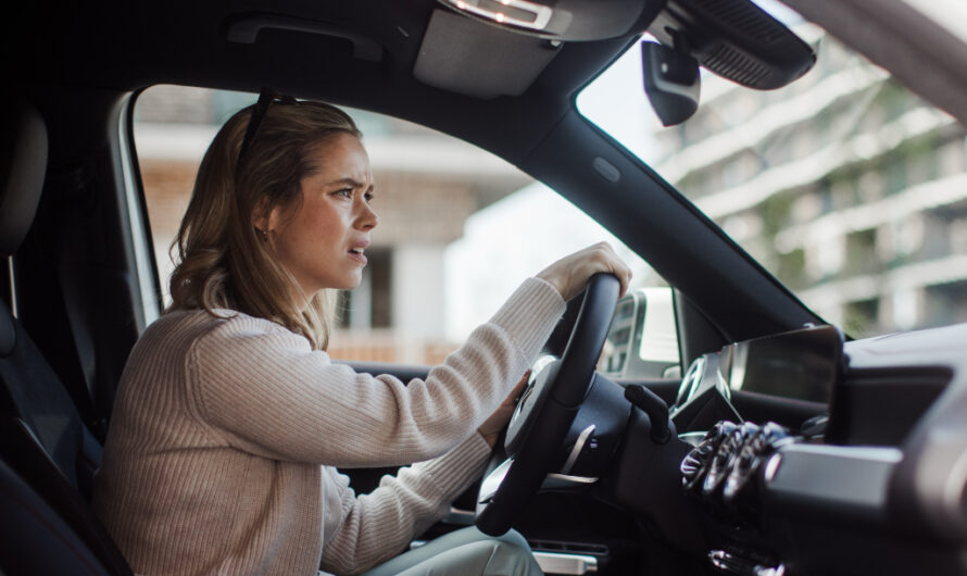
[[[374,188],[328,104],[264,91],[215,137],[95,488],[135,572],[349,574],[400,553],[480,475],[565,300],[594,273],[630,278],[591,247],[525,280],[425,380],[356,374],[326,348],[334,290],[359,285],[379,223]],[[412,462],[360,497],[336,471]],[[540,573],[514,533],[447,538],[373,574]]]

